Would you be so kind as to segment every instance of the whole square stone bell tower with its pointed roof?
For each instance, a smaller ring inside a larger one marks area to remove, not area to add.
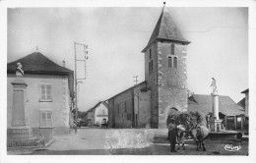
[[[151,88],[151,128],[166,128],[170,110],[187,110],[187,45],[163,6],[145,53],[145,78]]]

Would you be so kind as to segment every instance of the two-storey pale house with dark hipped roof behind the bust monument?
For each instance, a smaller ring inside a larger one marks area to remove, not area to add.
[[[73,92],[73,71],[61,67],[40,52],[7,64],[7,128],[12,128],[13,82],[17,63],[23,65],[26,89],[26,112],[35,136],[44,133],[69,133]],[[49,138],[49,137],[48,137]]]

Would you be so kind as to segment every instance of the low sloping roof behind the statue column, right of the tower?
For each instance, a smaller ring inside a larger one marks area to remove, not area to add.
[[[212,96],[194,94],[193,100],[191,97],[188,98],[188,110],[199,111],[203,115],[207,115],[212,112]],[[226,116],[245,114],[241,106],[237,105],[230,97],[223,95],[219,96],[219,111]]]

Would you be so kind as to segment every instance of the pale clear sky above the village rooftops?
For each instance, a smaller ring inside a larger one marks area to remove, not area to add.
[[[212,77],[220,95],[235,102],[248,88],[248,9],[167,7],[187,47],[188,89],[210,94]],[[12,62],[36,51],[74,68],[74,41],[88,45],[87,79],[79,84],[79,109],[86,111],[145,80],[144,54],[160,7],[8,9],[8,54]],[[81,47],[77,54],[83,57]],[[26,72],[25,72],[26,74]],[[79,78],[85,68],[78,66]]]

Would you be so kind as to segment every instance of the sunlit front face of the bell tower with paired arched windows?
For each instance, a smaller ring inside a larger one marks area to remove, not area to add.
[[[159,128],[166,128],[170,108],[187,110],[186,53],[186,45],[174,43],[173,55],[171,42],[158,42]],[[177,68],[168,67],[168,57],[177,57]]]

